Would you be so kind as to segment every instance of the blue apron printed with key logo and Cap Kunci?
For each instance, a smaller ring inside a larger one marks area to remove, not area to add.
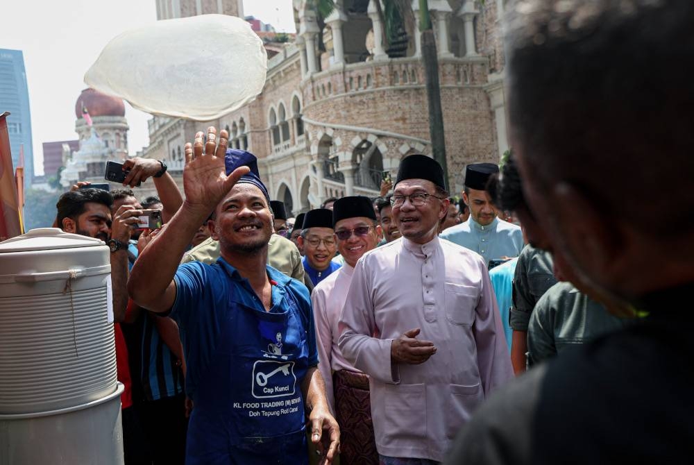
[[[242,286],[251,289],[246,280]],[[186,464],[308,464],[301,394],[307,326],[296,300],[273,286],[265,312],[260,301],[251,307],[230,294],[219,344],[195,393]]]

